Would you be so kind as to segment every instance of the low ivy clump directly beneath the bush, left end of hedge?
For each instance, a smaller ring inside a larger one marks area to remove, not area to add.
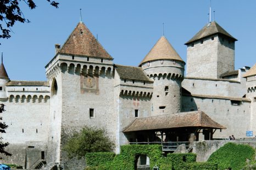
[[[113,161],[114,157],[115,153],[87,153],[85,160],[87,166],[99,166]]]

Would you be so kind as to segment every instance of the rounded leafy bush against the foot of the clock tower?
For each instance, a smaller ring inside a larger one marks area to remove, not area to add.
[[[64,150],[69,158],[81,158],[86,153],[111,151],[113,146],[114,143],[103,128],[85,126],[68,137]]]

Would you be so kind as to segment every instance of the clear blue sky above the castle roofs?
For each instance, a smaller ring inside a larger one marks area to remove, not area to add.
[[[57,1],[57,0],[56,0]],[[207,24],[210,0],[62,0],[55,9],[46,0],[22,10],[31,23],[16,24],[10,39],[0,39],[4,66],[11,80],[46,80],[44,66],[54,56],[54,44],[65,42],[80,19],[114,58],[137,66],[162,36],[186,62],[186,45]],[[20,3],[23,3],[22,1]],[[235,68],[256,63],[256,1],[212,0],[215,21],[238,39]],[[212,19],[214,15],[212,14]]]

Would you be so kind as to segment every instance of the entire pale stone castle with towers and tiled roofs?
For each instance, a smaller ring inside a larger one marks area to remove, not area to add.
[[[85,125],[103,127],[116,153],[167,129],[185,134],[185,127],[195,127],[193,140],[247,137],[256,131],[256,65],[235,70],[236,40],[209,22],[185,43],[187,63],[163,36],[138,67],[121,66],[79,22],[62,46],[55,44],[48,81],[10,80],[1,64],[9,126],[3,138],[13,154],[5,162],[64,165],[66,134]],[[182,134],[164,133],[171,141],[191,138]]]

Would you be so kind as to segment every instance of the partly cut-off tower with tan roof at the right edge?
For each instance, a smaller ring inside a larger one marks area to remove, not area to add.
[[[251,131],[256,132],[256,64],[243,75],[246,78],[246,97],[251,99]]]

